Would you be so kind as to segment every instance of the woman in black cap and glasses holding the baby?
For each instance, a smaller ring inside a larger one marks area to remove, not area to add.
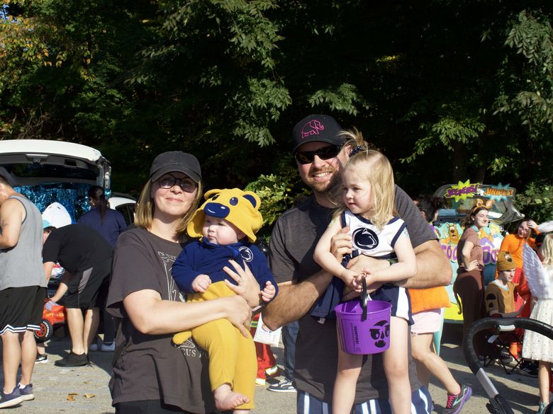
[[[108,311],[121,318],[110,381],[117,413],[213,412],[206,353],[191,341],[172,347],[172,335],[219,318],[247,332],[245,299],[184,303],[173,281],[172,265],[201,196],[196,157],[160,154],[138,200],[136,228],[118,240],[107,301]],[[257,295],[251,272],[237,272],[242,296]]]

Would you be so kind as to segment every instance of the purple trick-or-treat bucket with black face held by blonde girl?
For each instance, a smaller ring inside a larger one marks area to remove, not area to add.
[[[334,310],[342,351],[367,355],[390,347],[391,304],[388,302],[367,301],[366,295],[362,295],[361,301],[343,302]]]

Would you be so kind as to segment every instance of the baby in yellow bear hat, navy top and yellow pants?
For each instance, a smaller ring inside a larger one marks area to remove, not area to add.
[[[173,278],[187,301],[206,301],[235,294],[225,283],[236,284],[223,268],[228,260],[247,265],[259,282],[260,303],[277,294],[267,258],[252,244],[262,226],[259,197],[238,188],[210,190],[196,210],[187,231],[201,238],[187,244],[173,266]],[[245,338],[227,319],[177,333],[173,342],[192,336],[209,354],[209,378],[219,410],[253,408],[257,362],[251,336]]]

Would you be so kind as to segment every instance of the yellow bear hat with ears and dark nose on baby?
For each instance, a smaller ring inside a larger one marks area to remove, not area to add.
[[[190,237],[201,238],[201,229],[207,216],[225,219],[244,232],[253,243],[255,234],[263,224],[263,217],[259,212],[261,200],[252,191],[242,191],[239,188],[225,188],[224,190],[209,190],[203,196],[206,202],[194,212],[186,230]]]

